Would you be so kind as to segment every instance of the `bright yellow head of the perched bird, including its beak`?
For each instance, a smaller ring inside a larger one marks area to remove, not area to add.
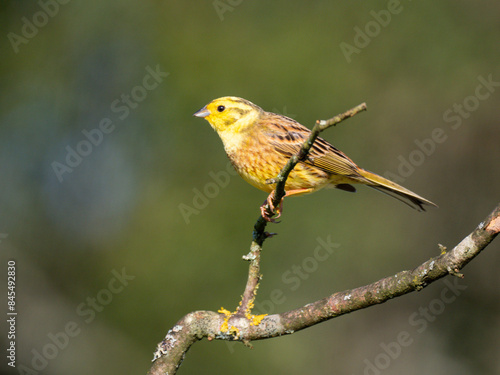
[[[240,133],[264,113],[262,108],[236,96],[214,99],[193,116],[203,117],[217,133]]]

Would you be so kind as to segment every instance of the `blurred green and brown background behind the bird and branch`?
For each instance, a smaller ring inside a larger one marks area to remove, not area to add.
[[[17,263],[17,365],[145,373],[183,315],[236,306],[266,195],[226,172],[217,134],[192,117],[219,96],[308,127],[366,102],[324,137],[439,205],[418,213],[368,188],[286,201],[265,244],[261,312],[454,246],[499,201],[499,11],[492,1],[3,1],[0,267]],[[319,259],[321,240],[338,247]],[[179,373],[499,373],[499,248],[464,280],[253,350],[204,340]],[[408,345],[396,350],[401,334]]]

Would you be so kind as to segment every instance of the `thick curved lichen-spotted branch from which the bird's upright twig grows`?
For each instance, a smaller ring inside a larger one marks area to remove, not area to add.
[[[295,310],[268,315],[258,325],[253,325],[251,320],[237,314],[228,319],[227,316],[212,311],[189,313],[179,320],[158,344],[154,363],[148,374],[175,374],[190,346],[204,337],[208,340],[248,342],[283,336],[421,290],[446,275],[457,275],[499,232],[500,204],[451,251],[429,259],[411,271],[402,271],[370,285],[334,293]],[[237,334],[221,332],[224,323],[229,323]]]

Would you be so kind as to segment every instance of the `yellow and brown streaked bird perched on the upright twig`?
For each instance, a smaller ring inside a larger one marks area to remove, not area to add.
[[[266,181],[278,176],[311,132],[289,117],[265,112],[252,102],[234,96],[215,99],[194,116],[205,118],[217,131],[240,176],[268,193],[273,191],[275,184]],[[298,163],[288,176],[285,196],[312,193],[326,185],[356,191],[351,184],[368,185],[419,211],[425,211],[425,205],[436,206],[410,190],[358,167],[322,138],[314,142],[308,160]],[[266,220],[271,221],[264,210],[262,212]]]

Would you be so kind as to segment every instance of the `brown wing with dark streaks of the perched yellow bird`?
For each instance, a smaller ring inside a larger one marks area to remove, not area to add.
[[[311,131],[297,121],[267,112],[261,119],[261,129],[276,151],[291,157],[296,154]],[[319,168],[329,174],[360,177],[358,167],[342,151],[323,138],[313,143],[305,164]]]

